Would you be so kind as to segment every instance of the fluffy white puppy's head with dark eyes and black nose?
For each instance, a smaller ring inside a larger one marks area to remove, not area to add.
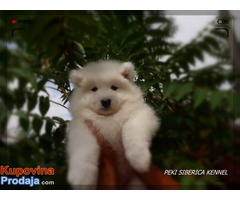
[[[112,115],[125,102],[136,98],[136,75],[131,62],[103,61],[90,63],[70,73],[75,86],[71,111],[87,109],[98,115]]]

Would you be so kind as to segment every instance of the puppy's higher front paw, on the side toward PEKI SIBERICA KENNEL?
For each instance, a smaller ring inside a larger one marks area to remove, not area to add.
[[[151,163],[151,153],[146,148],[132,149],[126,152],[130,165],[138,172],[147,172]]]

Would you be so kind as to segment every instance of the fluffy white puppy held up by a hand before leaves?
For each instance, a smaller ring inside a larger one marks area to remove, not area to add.
[[[133,83],[130,62],[90,63],[70,73],[74,92],[68,127],[68,181],[72,186],[96,186],[100,146],[88,129],[91,120],[118,157],[120,175],[133,168],[146,172],[151,163],[150,144],[159,121]],[[130,165],[129,165],[130,164]]]

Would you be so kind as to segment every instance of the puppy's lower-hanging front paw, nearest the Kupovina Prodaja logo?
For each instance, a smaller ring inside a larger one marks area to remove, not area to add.
[[[72,167],[67,179],[74,189],[94,189],[97,184],[97,167]]]

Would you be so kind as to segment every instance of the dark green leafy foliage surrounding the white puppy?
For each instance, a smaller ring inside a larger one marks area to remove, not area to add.
[[[1,165],[54,167],[55,176],[44,179],[55,180],[54,188],[69,188],[68,121],[47,115],[51,97],[45,84],[57,85],[65,105],[72,92],[69,71],[103,59],[135,64],[137,84],[161,118],[152,145],[153,162],[161,169],[215,169],[225,157],[238,155],[233,151],[236,136],[231,124],[240,114],[240,95],[232,88],[219,89],[226,81],[233,83],[234,74],[229,41],[215,31],[214,23],[183,45],[173,42],[177,27],[160,11],[6,11],[0,16]],[[23,24],[27,31],[12,37],[13,18],[34,23]],[[216,63],[191,70],[205,55]],[[18,86],[13,89],[14,80]],[[33,112],[35,107],[39,113]],[[19,132],[15,142],[7,144],[12,115],[18,116]],[[213,176],[175,178],[187,189],[227,186]]]

